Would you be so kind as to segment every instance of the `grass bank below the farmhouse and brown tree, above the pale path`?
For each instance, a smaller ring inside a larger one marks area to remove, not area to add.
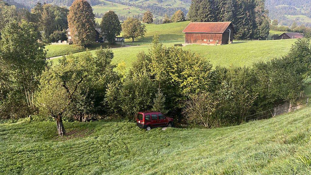
[[[103,46],[103,47],[121,47],[121,45],[109,45],[108,43],[92,43],[88,46],[81,47],[78,45],[46,45],[45,50],[47,50],[46,58],[56,57],[56,56],[63,56],[67,54],[74,54],[78,52],[84,52],[86,50],[95,50],[96,48]]]

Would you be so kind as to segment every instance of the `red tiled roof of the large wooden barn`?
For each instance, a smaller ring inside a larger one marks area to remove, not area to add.
[[[231,22],[190,22],[184,33],[224,33]]]

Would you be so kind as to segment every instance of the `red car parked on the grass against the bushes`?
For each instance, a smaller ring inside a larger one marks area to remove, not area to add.
[[[138,112],[136,125],[140,128],[144,128],[147,131],[155,127],[173,127],[174,119],[165,117],[160,112]]]

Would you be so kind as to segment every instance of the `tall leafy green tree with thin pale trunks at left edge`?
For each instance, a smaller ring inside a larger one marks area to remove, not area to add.
[[[7,73],[12,87],[10,93],[18,94],[21,101],[25,102],[28,112],[35,109],[34,94],[37,90],[38,77],[46,67],[46,51],[38,43],[38,33],[33,23],[12,21],[1,31],[0,63],[2,71]],[[22,38],[22,40],[21,40]],[[6,96],[7,97],[7,96]]]

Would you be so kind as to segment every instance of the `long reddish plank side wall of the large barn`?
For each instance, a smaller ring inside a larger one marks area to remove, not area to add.
[[[222,34],[221,33],[186,33],[185,44],[207,44],[207,45],[222,44]]]

